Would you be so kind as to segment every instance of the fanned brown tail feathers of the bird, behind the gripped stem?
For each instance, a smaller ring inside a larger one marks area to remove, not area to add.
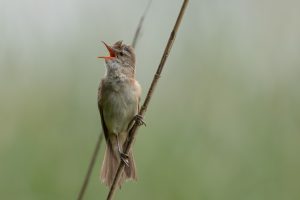
[[[133,159],[132,152],[129,152],[129,166],[125,165],[124,172],[122,173],[118,186],[121,188],[121,185],[124,183],[125,180],[137,180],[136,168]],[[115,153],[112,148],[109,146],[106,147],[104,153],[104,159],[101,168],[101,181],[108,187],[110,187],[114,181],[114,177],[118,170],[120,164],[119,153]]]

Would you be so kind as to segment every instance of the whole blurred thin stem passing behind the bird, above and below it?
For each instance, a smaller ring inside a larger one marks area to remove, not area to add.
[[[135,35],[134,35],[134,38],[133,38],[133,42],[132,42],[132,47],[133,48],[135,48],[135,46],[137,44],[137,40],[139,38],[140,31],[141,31],[142,26],[143,26],[143,22],[144,22],[144,19],[146,17],[146,14],[147,14],[147,12],[148,12],[148,10],[150,8],[151,2],[152,2],[152,0],[150,0],[148,2],[148,5],[147,5],[147,7],[146,7],[146,9],[145,9],[145,11],[144,11],[144,13],[143,13],[140,21],[139,21],[139,24],[138,24],[138,27],[137,27],[137,30],[135,32]],[[90,177],[91,177],[94,165],[95,165],[95,161],[96,161],[96,158],[97,158],[97,155],[98,155],[98,152],[99,152],[102,140],[103,140],[103,133],[100,133],[100,135],[98,137],[98,140],[97,140],[97,143],[96,143],[96,146],[95,146],[95,149],[94,149],[94,152],[93,152],[93,155],[92,155],[92,158],[90,160],[90,164],[89,164],[87,173],[86,173],[85,178],[84,178],[84,182],[83,182],[83,184],[81,186],[81,189],[80,189],[80,192],[78,194],[77,200],[82,200],[83,199],[83,195],[85,194],[86,188],[88,186],[88,183],[89,183],[89,180],[90,180]]]

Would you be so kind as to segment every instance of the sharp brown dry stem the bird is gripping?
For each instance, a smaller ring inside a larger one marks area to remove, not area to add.
[[[182,6],[181,6],[180,12],[179,12],[179,14],[178,14],[176,23],[175,23],[175,25],[174,25],[174,28],[173,28],[173,30],[172,30],[172,32],[171,32],[171,34],[170,34],[170,37],[169,37],[168,43],[167,43],[167,45],[166,45],[165,51],[164,51],[164,53],[163,53],[163,56],[162,56],[162,58],[161,58],[161,61],[160,61],[160,63],[159,63],[159,66],[158,66],[158,68],[157,68],[157,71],[156,71],[156,73],[155,73],[155,75],[154,75],[154,78],[153,78],[153,80],[152,80],[151,86],[150,86],[150,88],[149,88],[149,90],[148,90],[148,94],[147,94],[147,96],[146,96],[146,99],[145,99],[145,101],[144,101],[144,104],[143,104],[143,106],[141,107],[141,110],[140,110],[140,112],[139,112],[139,115],[141,115],[141,116],[144,116],[144,115],[145,115],[145,112],[146,112],[147,107],[148,107],[148,104],[149,104],[149,102],[150,102],[150,100],[151,100],[153,91],[154,91],[154,89],[155,89],[155,87],[156,87],[156,85],[157,85],[157,82],[158,82],[158,79],[159,79],[160,74],[161,74],[161,72],[162,72],[162,69],[163,69],[163,67],[164,67],[164,64],[165,64],[165,62],[166,62],[166,60],[167,60],[167,58],[168,58],[168,56],[169,56],[170,50],[171,50],[172,45],[173,45],[173,43],[174,43],[174,41],[175,41],[176,33],[177,33],[177,31],[178,31],[178,28],[179,28],[179,25],[180,25],[180,22],[181,22],[181,20],[182,20],[182,17],[183,17],[183,14],[184,14],[184,12],[185,12],[185,9],[186,9],[187,4],[188,4],[188,0],[184,0],[184,1],[183,1],[183,4],[182,4]],[[136,135],[136,131],[137,131],[138,127],[139,127],[139,125],[138,125],[138,122],[136,121],[136,122],[134,123],[133,127],[131,128],[131,130],[129,131],[129,134],[128,134],[128,140],[127,140],[128,142],[127,142],[126,148],[125,148],[125,153],[126,153],[126,154],[128,154],[129,149],[130,149],[130,147],[131,147],[131,145],[132,145],[132,142],[134,141],[134,137],[135,137],[135,135]],[[115,193],[115,191],[116,191],[117,182],[119,181],[119,178],[120,178],[121,174],[123,173],[123,170],[124,170],[124,163],[121,162],[120,165],[119,165],[118,171],[117,171],[117,173],[116,173],[116,175],[115,175],[113,184],[112,184],[112,186],[110,187],[109,193],[108,193],[108,195],[107,195],[107,200],[111,200],[111,199],[112,199],[112,197],[113,197],[113,195],[114,195],[114,193]]]

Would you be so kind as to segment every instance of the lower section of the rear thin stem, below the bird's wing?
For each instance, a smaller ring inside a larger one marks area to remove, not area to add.
[[[98,155],[98,152],[99,152],[99,149],[100,149],[100,144],[101,144],[102,140],[103,140],[103,134],[100,133],[100,135],[98,137],[98,140],[97,140],[97,143],[96,143],[96,146],[95,146],[95,149],[94,149],[93,156],[92,156],[90,164],[89,164],[88,171],[85,175],[85,179],[84,179],[83,185],[80,189],[77,200],[81,200],[83,198],[83,195],[84,195],[85,190],[88,186],[88,183],[89,183],[89,180],[90,180],[90,177],[91,177],[94,165],[95,165],[95,161],[96,161],[96,158],[97,158],[97,155]]]

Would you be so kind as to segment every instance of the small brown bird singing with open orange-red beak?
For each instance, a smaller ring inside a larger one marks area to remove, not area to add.
[[[100,56],[106,63],[106,74],[98,90],[98,108],[106,139],[106,150],[101,168],[101,180],[111,186],[120,162],[125,169],[118,186],[127,179],[137,179],[132,150],[124,154],[124,144],[131,124],[137,118],[141,95],[135,80],[135,54],[131,46],[116,42],[113,46],[103,42],[109,56]]]

